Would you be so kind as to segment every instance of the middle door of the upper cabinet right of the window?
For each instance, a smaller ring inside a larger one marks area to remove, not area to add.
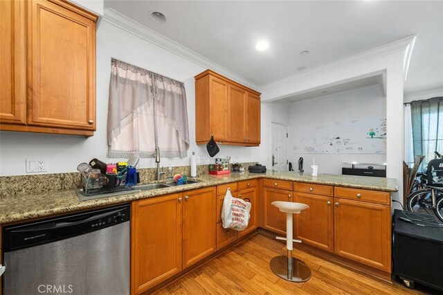
[[[246,91],[229,87],[229,141],[246,143]]]

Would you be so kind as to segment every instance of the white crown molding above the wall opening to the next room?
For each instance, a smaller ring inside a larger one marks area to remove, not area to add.
[[[385,55],[390,55],[392,53],[397,53],[399,51],[405,52],[404,59],[404,71],[407,71],[410,55],[412,54],[413,45],[415,43],[416,36],[406,37],[404,39],[400,39],[396,42],[392,42],[390,44],[386,44],[383,46],[379,46],[377,48],[373,48],[369,51],[363,51],[362,53],[357,53],[355,55],[351,55],[349,57],[345,57],[341,60],[336,60],[335,62],[330,62],[329,64],[325,64],[323,66],[317,66],[308,71],[304,71],[302,73],[297,73],[296,75],[291,75],[287,78],[283,78],[268,84],[262,85],[259,91],[264,92],[265,89],[269,89],[271,87],[279,87],[282,84],[287,84],[289,82],[300,81],[305,78],[309,78],[313,75],[321,75],[323,73],[330,73],[333,70],[343,69],[347,66],[352,66],[354,64],[359,64],[361,62],[367,62],[370,60],[377,59],[379,57],[383,57]],[[406,79],[406,73],[405,73]]]

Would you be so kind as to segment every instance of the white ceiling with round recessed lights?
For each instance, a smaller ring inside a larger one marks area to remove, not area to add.
[[[417,35],[405,93],[443,88],[443,1],[105,0],[105,8],[257,87]],[[150,19],[153,10],[165,24]],[[258,39],[269,40],[266,51],[255,50]]]

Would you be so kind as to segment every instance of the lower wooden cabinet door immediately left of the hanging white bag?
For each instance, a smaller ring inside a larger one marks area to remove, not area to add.
[[[215,187],[183,193],[183,268],[213,253],[215,242]]]

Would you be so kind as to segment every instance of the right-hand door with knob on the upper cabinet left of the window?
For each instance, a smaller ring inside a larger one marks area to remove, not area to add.
[[[28,124],[96,129],[96,19],[63,1],[29,1]]]

